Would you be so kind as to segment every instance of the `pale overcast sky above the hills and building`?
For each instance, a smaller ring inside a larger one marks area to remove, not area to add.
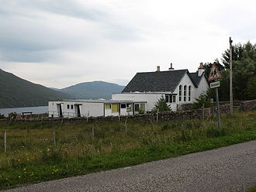
[[[0,0],[0,68],[63,88],[126,85],[137,72],[195,72],[235,43],[256,43],[256,2]]]

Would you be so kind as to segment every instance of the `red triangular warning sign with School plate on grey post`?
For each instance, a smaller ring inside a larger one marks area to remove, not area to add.
[[[211,70],[209,71],[209,78],[208,81],[213,81],[215,82],[210,84],[210,88],[215,88],[215,93],[216,93],[216,101],[217,101],[217,113],[218,113],[218,128],[220,128],[220,103],[219,103],[219,91],[218,87],[220,87],[220,81],[217,81],[217,79],[220,79],[221,74],[216,65],[213,63],[213,66]]]

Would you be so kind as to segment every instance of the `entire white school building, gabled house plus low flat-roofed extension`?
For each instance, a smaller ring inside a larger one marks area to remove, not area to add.
[[[49,101],[50,117],[87,117],[109,115],[136,115],[151,111],[163,96],[172,111],[178,105],[193,103],[209,89],[202,63],[195,73],[189,70],[137,73],[122,93],[112,93],[111,100]]]

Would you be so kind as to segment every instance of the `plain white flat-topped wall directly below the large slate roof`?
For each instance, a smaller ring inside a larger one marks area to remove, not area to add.
[[[147,101],[145,104],[145,111],[151,111],[154,108],[157,100],[161,98],[162,94],[153,93],[121,93],[112,94],[112,100],[115,101]]]

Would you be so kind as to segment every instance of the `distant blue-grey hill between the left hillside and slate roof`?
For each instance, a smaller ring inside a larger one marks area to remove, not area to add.
[[[72,98],[105,98],[110,99],[112,93],[120,93],[124,86],[112,84],[104,81],[92,81],[81,84],[75,84],[71,87],[61,89]]]

